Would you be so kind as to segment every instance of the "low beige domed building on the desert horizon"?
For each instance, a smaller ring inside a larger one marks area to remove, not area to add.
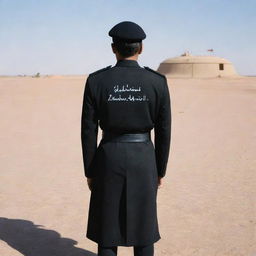
[[[185,52],[164,60],[157,69],[167,77],[227,77],[237,76],[232,63],[216,56],[192,56]]]

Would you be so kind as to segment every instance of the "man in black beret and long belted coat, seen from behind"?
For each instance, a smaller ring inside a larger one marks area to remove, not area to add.
[[[138,64],[146,38],[138,24],[118,23],[109,36],[116,65],[91,73],[84,89],[81,139],[91,190],[86,237],[98,243],[101,256],[117,255],[117,246],[152,256],[161,238],[156,198],[171,141],[169,89],[165,76]]]

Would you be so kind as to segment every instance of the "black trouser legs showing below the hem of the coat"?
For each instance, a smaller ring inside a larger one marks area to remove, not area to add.
[[[153,256],[154,244],[133,246],[134,256]],[[103,247],[98,244],[98,256],[117,256],[117,246]]]

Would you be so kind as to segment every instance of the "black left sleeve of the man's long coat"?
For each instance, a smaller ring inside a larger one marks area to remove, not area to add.
[[[93,177],[91,166],[97,149],[98,118],[90,78],[86,80],[81,115],[81,142],[84,163],[84,175]]]

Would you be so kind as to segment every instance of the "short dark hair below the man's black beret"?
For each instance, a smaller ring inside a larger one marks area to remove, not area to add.
[[[126,42],[116,40],[113,41],[113,45],[115,46],[120,55],[122,55],[123,57],[131,57],[139,51],[142,42]]]

